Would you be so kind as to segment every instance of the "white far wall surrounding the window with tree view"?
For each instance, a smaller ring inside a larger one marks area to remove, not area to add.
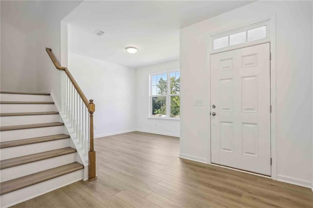
[[[179,120],[148,118],[149,116],[149,74],[179,69],[179,61],[165,62],[136,69],[137,129],[179,137]]]

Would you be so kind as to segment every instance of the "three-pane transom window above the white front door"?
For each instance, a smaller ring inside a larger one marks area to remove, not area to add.
[[[213,50],[266,38],[266,25],[214,39]]]

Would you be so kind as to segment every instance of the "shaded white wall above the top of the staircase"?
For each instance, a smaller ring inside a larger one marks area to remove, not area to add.
[[[61,20],[81,1],[1,1],[1,90],[53,89],[60,76],[45,47],[61,58]]]

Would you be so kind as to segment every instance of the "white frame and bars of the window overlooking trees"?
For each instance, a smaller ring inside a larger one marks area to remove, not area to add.
[[[163,72],[149,74],[149,115],[148,115],[149,119],[164,119],[164,120],[176,120],[176,121],[180,120],[180,118],[171,117],[171,97],[180,96],[180,92],[179,94],[170,94],[170,86],[171,86],[170,85],[170,73],[178,72],[178,71],[179,69],[175,69],[175,70],[170,70],[170,71],[163,71]],[[152,95],[152,76],[165,74],[165,73],[167,74],[167,94],[166,95]],[[166,97],[166,117],[153,117],[152,116],[152,98],[154,97]]]

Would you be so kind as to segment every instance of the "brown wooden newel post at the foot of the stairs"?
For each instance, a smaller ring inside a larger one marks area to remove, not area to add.
[[[89,100],[89,118],[90,118],[90,147],[89,147],[89,181],[96,179],[96,152],[93,148],[93,112],[95,105],[93,100]]]

